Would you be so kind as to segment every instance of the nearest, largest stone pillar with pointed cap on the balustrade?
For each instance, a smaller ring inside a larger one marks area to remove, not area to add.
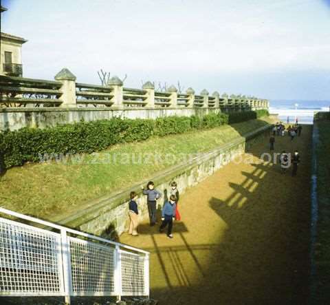
[[[61,107],[77,107],[76,103],[76,76],[72,74],[66,67],[55,75],[55,80],[60,81],[62,86],[60,91]]]

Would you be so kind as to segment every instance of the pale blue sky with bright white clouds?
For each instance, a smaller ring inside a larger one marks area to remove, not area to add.
[[[330,0],[2,0],[23,76],[330,100]]]

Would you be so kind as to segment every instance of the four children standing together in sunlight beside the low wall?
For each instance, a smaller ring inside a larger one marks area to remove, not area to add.
[[[148,214],[150,220],[150,226],[153,227],[157,224],[157,200],[162,198],[162,193],[155,189],[155,185],[152,181],[149,181],[146,185],[146,189],[142,186],[142,193],[147,196]],[[137,236],[137,227],[139,224],[137,208],[137,193],[132,191],[130,194],[131,200],[129,201],[129,234]],[[177,189],[177,183],[175,181],[170,183],[170,198],[166,198],[162,208],[162,224],[159,227],[159,232],[162,233],[167,227],[168,238],[173,238],[172,229],[173,222],[180,220],[181,216],[177,209],[179,202],[179,190]]]

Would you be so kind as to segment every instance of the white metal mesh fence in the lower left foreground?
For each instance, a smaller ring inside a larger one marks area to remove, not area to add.
[[[0,218],[0,296],[63,295],[69,302],[70,295],[149,295],[148,252],[7,209],[0,213],[46,228]]]

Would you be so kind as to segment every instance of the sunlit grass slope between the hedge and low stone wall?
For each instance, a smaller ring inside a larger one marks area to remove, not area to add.
[[[157,152],[163,156],[168,153],[174,156],[194,154],[214,149],[270,122],[271,119],[265,117],[205,131],[152,137],[140,143],[116,145],[100,154],[103,157],[117,154],[118,160],[133,152]],[[95,159],[93,155],[83,154],[80,157],[83,164],[52,161],[8,169],[0,180],[0,206],[52,220],[56,215],[81,209],[87,200],[129,187],[181,160],[177,158],[173,164],[151,160],[151,164],[129,162],[122,165],[113,159],[103,164],[90,164]]]

